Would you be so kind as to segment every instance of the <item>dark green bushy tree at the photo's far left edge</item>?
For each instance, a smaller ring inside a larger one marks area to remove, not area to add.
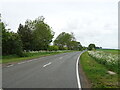
[[[23,55],[22,42],[17,33],[10,32],[5,28],[4,23],[2,24],[2,54],[17,54],[19,56]]]

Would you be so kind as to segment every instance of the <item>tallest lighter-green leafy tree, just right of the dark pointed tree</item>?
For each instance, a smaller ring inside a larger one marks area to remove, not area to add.
[[[44,19],[45,18],[41,16],[33,21],[27,20],[25,22],[25,25],[32,31],[33,42],[31,45],[33,50],[47,50],[49,44],[52,42],[54,32],[51,27],[44,22]]]

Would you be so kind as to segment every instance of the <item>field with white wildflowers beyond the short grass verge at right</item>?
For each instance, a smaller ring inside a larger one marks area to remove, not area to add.
[[[96,50],[88,51],[98,63],[105,65],[110,71],[118,72],[118,50]]]

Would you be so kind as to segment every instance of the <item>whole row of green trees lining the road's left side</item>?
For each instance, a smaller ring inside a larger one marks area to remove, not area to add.
[[[25,25],[19,24],[16,33],[6,29],[6,25],[0,22],[2,54],[23,56],[24,51],[82,50],[81,43],[76,41],[73,33],[62,32],[52,41],[55,32],[44,20],[43,16],[35,20],[26,20]],[[53,45],[50,45],[51,42]]]

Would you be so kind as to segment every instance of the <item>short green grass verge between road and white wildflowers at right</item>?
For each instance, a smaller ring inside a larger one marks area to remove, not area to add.
[[[92,88],[118,88],[118,74],[108,74],[107,68],[90,57],[88,52],[81,55],[80,63]]]

